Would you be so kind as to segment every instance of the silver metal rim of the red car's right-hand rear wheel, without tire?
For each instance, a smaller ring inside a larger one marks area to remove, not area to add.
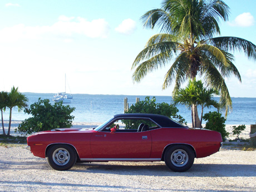
[[[189,155],[182,149],[177,149],[171,154],[171,163],[175,166],[181,167],[186,165],[189,160]]]

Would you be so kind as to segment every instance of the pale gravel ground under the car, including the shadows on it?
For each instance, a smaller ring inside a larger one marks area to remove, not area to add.
[[[0,191],[255,191],[256,151],[224,147],[185,173],[164,162],[76,164],[56,171],[46,159],[23,149],[0,146]]]

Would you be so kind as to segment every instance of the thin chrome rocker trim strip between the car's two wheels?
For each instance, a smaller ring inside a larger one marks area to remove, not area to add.
[[[81,158],[81,161],[161,161],[161,158]]]

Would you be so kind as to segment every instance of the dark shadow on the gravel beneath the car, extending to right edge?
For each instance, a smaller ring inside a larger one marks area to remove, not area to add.
[[[78,170],[77,170],[78,169]],[[192,168],[183,173],[169,170],[165,164],[161,165],[107,165],[99,163],[76,164],[72,172],[104,173],[117,175],[149,175],[149,176],[210,176],[210,177],[234,177],[256,176],[256,165],[237,164],[194,164]]]

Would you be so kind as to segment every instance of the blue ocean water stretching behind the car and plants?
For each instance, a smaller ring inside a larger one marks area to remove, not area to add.
[[[38,98],[49,99],[52,104],[54,93],[24,93],[28,97],[28,105],[38,101]],[[70,105],[75,107],[72,115],[75,116],[73,122],[104,122],[115,114],[124,113],[124,99],[127,97],[129,106],[134,105],[136,97],[144,100],[146,96],[131,96],[131,95],[86,95],[86,94],[73,94],[73,99]],[[155,96],[156,103],[166,102],[171,103],[171,96]],[[152,96],[150,96],[152,98]],[[216,98],[218,100],[218,98]],[[228,115],[225,124],[230,125],[248,125],[256,123],[256,98],[237,98],[233,97],[233,111]],[[191,111],[185,106],[177,106],[179,109],[178,114],[183,116],[184,119],[191,124]],[[199,109],[200,111],[200,109]],[[214,108],[204,109],[204,113],[208,111],[215,111]],[[23,111],[18,112],[17,107],[13,109],[12,120],[24,120],[29,115],[24,114]],[[9,110],[3,114],[3,119],[9,119]],[[204,123],[204,122],[203,122]]]

